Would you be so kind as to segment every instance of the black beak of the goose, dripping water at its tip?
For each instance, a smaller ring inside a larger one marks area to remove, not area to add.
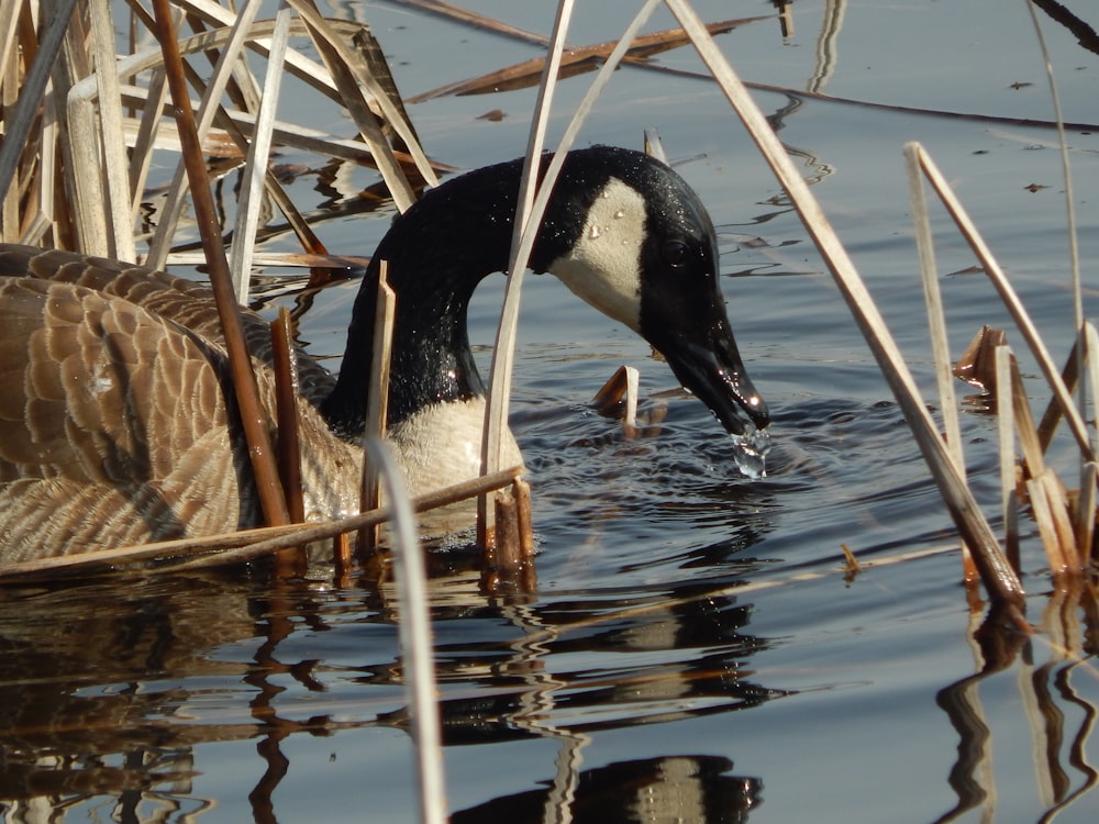
[[[748,426],[763,430],[770,423],[767,404],[752,386],[724,319],[714,319],[686,335],[651,343],[684,387],[713,412],[729,434],[744,435]]]

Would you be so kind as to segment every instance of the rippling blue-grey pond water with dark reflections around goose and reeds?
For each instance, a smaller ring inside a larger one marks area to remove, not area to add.
[[[550,27],[550,3],[468,4]],[[625,25],[617,4],[580,5],[576,44]],[[696,5],[709,20],[771,8]],[[1052,116],[1022,2],[793,5],[788,38],[775,21],[720,38],[746,80]],[[1068,5],[1099,26],[1089,3]],[[338,12],[373,24],[407,94],[535,54],[399,4]],[[1066,120],[1099,123],[1099,59],[1040,16]],[[663,15],[651,29],[668,24]],[[656,62],[699,67],[686,49]],[[562,107],[584,88],[582,78],[565,83]],[[1064,356],[1073,315],[1054,132],[777,92],[756,99],[815,180],[929,398],[906,141],[928,146]],[[338,112],[288,100],[287,119],[346,133]],[[531,91],[441,98],[411,113],[434,157],[473,167],[522,152],[532,100]],[[492,109],[503,120],[478,119]],[[979,628],[950,520],[902,417],[715,87],[623,69],[581,142],[637,145],[647,126],[719,226],[733,326],[775,412],[768,474],[740,477],[728,438],[690,398],[647,400],[645,411],[665,405],[666,416],[635,439],[595,415],[588,400],[622,363],[642,370],[646,394],[675,381],[643,343],[564,288],[528,281],[513,428],[534,485],[539,587],[490,598],[460,552],[435,558],[453,820],[1028,822],[1056,811],[1058,822],[1095,821],[1099,678],[1088,610],[1047,597],[1030,541],[1023,567],[1040,631]],[[1087,282],[1099,257],[1099,136],[1074,131],[1068,141]],[[371,182],[352,177],[348,191]],[[302,175],[296,201],[338,200],[321,179]],[[320,231],[334,250],[368,254],[390,215],[334,219]],[[934,225],[941,269],[972,266],[945,219]],[[354,288],[331,290],[307,315],[317,350],[340,352]],[[956,350],[981,323],[1006,323],[979,275],[945,275],[943,289]],[[477,303],[477,344],[491,343],[499,297],[496,283]],[[963,417],[973,485],[991,506],[995,422]],[[846,580],[842,545],[882,565]],[[4,820],[413,821],[396,617],[388,584],[336,586],[323,565],[288,584],[232,570],[0,589]]]

